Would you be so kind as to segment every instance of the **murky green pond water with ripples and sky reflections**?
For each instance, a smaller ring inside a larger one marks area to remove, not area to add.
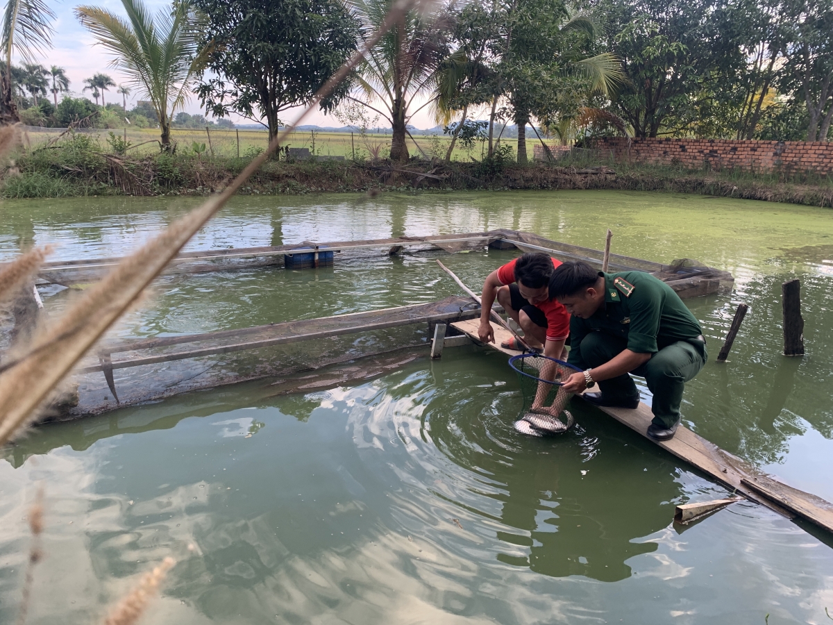
[[[0,260],[127,253],[193,200],[0,204]],[[727,198],[506,192],[236,198],[189,249],[514,228],[668,262],[735,291],[686,303],[711,362],[686,385],[703,437],[833,501],[833,213]],[[507,251],[444,257],[479,284]],[[194,333],[431,302],[436,254],[163,278],[117,328]],[[781,356],[781,283],[801,278],[804,358]],[[57,313],[66,291],[42,289]],[[736,305],[730,363],[713,359]],[[425,348],[427,353],[427,348]],[[559,438],[512,428],[506,359],[447,349],[369,382],[263,398],[263,383],[42,426],[0,453],[0,622],[14,622],[46,489],[30,623],[101,622],[166,556],[153,623],[829,622],[833,538],[748,502],[685,529],[674,506],[726,490],[581,402]]]

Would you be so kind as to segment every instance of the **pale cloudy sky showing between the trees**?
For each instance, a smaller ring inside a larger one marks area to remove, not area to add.
[[[119,16],[124,16],[122,2],[119,2],[119,0],[87,0],[87,2],[93,6],[107,8],[107,10]],[[152,11],[158,11],[170,6],[169,0],[167,2],[164,0],[145,0],[145,2],[147,7],[151,8]],[[73,13],[73,9],[78,3],[80,2],[72,2],[72,0],[69,2],[61,2],[59,0],[57,4],[51,3],[52,10],[56,14],[56,20],[54,22],[55,35],[52,37],[53,47],[52,50],[48,50],[44,57],[40,59],[40,62],[46,67],[52,65],[63,67],[70,80],[69,88],[72,95],[83,95],[92,99],[90,92],[82,93],[85,78],[92,77],[97,72],[104,72],[112,77],[113,81],[117,84],[127,83],[128,80],[125,75],[108,66],[108,63],[112,60],[112,55],[107,54],[101,46],[95,45],[95,40],[92,35],[78,22]],[[19,61],[20,59],[17,59],[17,62]],[[127,97],[128,109],[137,100],[143,99],[137,92],[137,88],[132,88],[133,92]],[[52,94],[50,93],[50,95]],[[110,91],[105,93],[105,100],[106,102],[121,102],[122,96],[116,93],[115,88],[111,87]],[[436,122],[434,122],[428,113],[428,108],[423,108],[421,112],[418,112],[412,118],[412,126],[416,126],[416,128],[433,128],[436,125]],[[197,97],[191,97],[185,105],[184,110],[192,114],[205,114],[200,108]],[[287,123],[295,122],[299,114],[300,110],[287,111],[284,113],[282,120]],[[371,115],[373,114],[371,113]],[[238,124],[252,123],[252,121],[237,115],[232,115],[231,119],[232,122]],[[318,126],[342,126],[342,123],[336,117],[324,115],[319,111],[312,112],[302,123],[317,124]]]

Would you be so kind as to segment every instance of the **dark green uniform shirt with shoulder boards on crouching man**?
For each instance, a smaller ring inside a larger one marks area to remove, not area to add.
[[[605,278],[605,304],[590,318],[571,318],[570,363],[581,362],[581,341],[594,331],[625,339],[636,353],[656,353],[703,333],[680,296],[659,278],[644,272],[599,275]]]

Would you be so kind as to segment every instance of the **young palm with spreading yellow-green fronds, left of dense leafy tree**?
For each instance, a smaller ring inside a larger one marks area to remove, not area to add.
[[[152,17],[142,0],[122,0],[127,21],[100,7],[76,7],[75,14],[103,47],[115,55],[112,67],[130,77],[157,114],[162,145],[171,144],[171,118],[182,108],[197,72],[205,66],[207,47],[187,2]]]

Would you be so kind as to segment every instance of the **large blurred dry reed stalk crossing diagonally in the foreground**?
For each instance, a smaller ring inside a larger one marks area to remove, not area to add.
[[[317,107],[318,102],[352,72],[370,49],[394,23],[402,18],[418,0],[398,0],[382,26],[339,70],[330,77],[298,117],[296,125]],[[423,0],[425,3],[425,0]],[[52,389],[64,378],[77,361],[116,323],[140,297],[172,258],[200,228],[219,211],[247,179],[266,162],[290,129],[279,133],[267,151],[252,160],[222,193],[208,198],[201,207],[172,223],[165,232],[153,238],[131,256],[124,258],[102,282],[97,283],[77,303],[32,343],[29,352],[11,368],[0,373],[0,445],[18,429],[25,428],[36,417],[36,411],[51,396]]]

